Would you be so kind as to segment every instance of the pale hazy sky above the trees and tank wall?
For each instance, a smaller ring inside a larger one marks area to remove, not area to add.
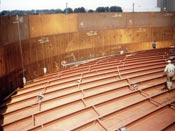
[[[62,9],[68,7],[74,9],[84,7],[95,10],[97,7],[120,6],[123,11],[159,11],[157,0],[0,0],[0,11],[2,10],[37,10],[37,9]]]

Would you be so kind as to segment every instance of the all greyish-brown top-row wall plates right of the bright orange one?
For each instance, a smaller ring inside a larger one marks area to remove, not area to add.
[[[89,13],[78,15],[78,30],[105,30],[128,27],[174,25],[174,13]],[[92,20],[94,21],[92,23]]]

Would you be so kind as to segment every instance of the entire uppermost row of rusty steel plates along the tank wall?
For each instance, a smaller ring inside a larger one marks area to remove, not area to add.
[[[16,19],[16,16],[1,17],[0,41],[3,44],[19,41]],[[87,13],[19,16],[19,32],[21,40],[25,40],[29,37],[77,31],[173,26],[175,24],[174,19],[174,13]],[[92,32],[89,32],[89,35],[92,35]]]

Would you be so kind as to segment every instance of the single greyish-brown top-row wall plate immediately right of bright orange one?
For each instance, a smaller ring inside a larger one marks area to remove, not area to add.
[[[87,13],[78,15],[78,30],[104,30],[126,27],[125,13]]]

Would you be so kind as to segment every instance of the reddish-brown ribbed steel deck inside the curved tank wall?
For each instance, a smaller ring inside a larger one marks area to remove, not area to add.
[[[2,128],[174,131],[175,82],[172,90],[162,90],[163,69],[174,50],[110,56],[38,78],[1,106]]]

